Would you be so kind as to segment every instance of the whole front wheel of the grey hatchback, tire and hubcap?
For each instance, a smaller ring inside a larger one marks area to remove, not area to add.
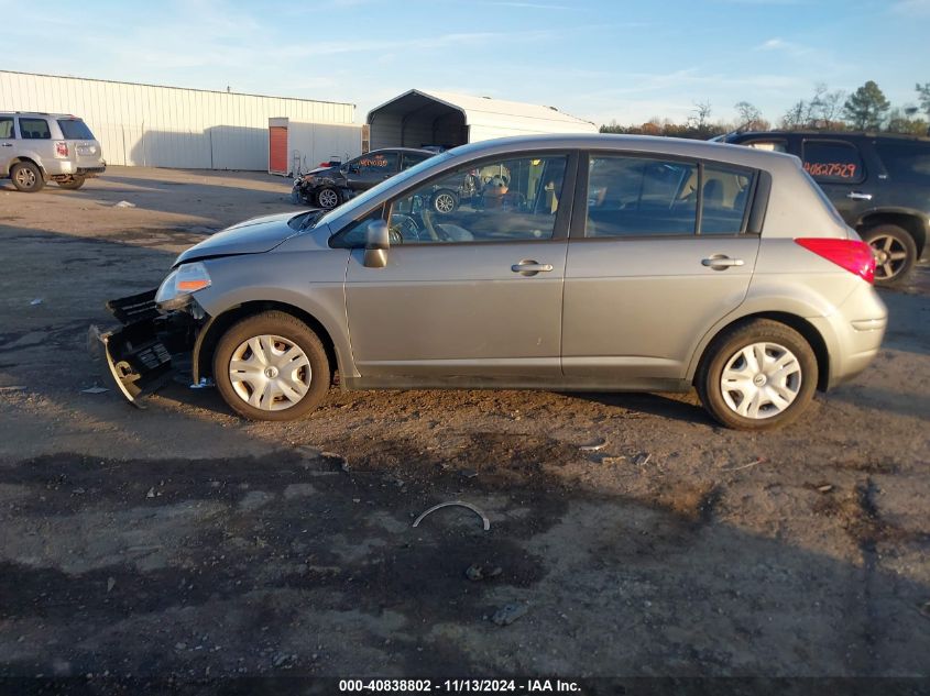
[[[319,336],[282,311],[234,323],[214,352],[217,389],[233,411],[250,420],[306,416],[326,397],[330,377]]]

